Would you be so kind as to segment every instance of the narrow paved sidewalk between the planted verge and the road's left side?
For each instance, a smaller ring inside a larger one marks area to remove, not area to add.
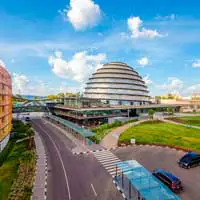
[[[36,145],[37,164],[32,200],[45,200],[47,190],[47,157],[43,142],[37,132],[35,132],[34,140]]]

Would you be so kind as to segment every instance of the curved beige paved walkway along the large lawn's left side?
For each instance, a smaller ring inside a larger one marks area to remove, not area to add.
[[[131,126],[135,126],[145,121],[148,120],[140,120],[137,122],[132,122],[114,129],[112,132],[110,132],[103,138],[103,140],[101,141],[101,146],[103,146],[106,149],[116,148],[118,146],[118,139],[121,133],[123,133],[126,129],[130,128]]]

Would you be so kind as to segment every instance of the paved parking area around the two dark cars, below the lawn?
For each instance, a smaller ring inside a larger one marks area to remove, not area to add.
[[[137,160],[149,171],[162,168],[172,172],[182,181],[185,190],[179,194],[182,200],[200,199],[200,167],[187,170],[177,164],[184,152],[156,146],[133,146],[118,148],[113,153],[122,161]]]

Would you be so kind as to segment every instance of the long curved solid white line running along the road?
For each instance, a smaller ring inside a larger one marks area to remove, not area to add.
[[[65,166],[64,166],[64,163],[63,163],[63,160],[62,160],[62,157],[61,157],[61,154],[58,150],[58,147],[56,145],[56,143],[53,141],[53,139],[51,138],[51,136],[47,133],[46,130],[44,130],[40,125],[36,124],[36,126],[39,126],[41,130],[43,130],[43,132],[46,133],[46,135],[49,137],[49,139],[51,140],[51,142],[53,143],[55,149],[56,149],[56,152],[58,154],[58,157],[60,159],[60,162],[61,162],[61,165],[62,165],[62,169],[63,169],[63,172],[64,172],[64,176],[65,176],[65,182],[66,182],[66,185],[67,185],[67,190],[68,190],[68,196],[69,196],[69,200],[71,200],[71,193],[70,193],[70,189],[69,189],[69,181],[68,181],[68,178],[67,178],[67,173],[66,173],[66,170],[65,170]]]

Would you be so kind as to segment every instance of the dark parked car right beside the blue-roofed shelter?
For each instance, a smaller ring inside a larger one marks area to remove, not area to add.
[[[178,193],[183,191],[181,181],[172,173],[163,169],[156,169],[153,171],[152,174],[156,178],[158,178],[162,183],[164,183],[167,187],[169,187],[173,192]]]

